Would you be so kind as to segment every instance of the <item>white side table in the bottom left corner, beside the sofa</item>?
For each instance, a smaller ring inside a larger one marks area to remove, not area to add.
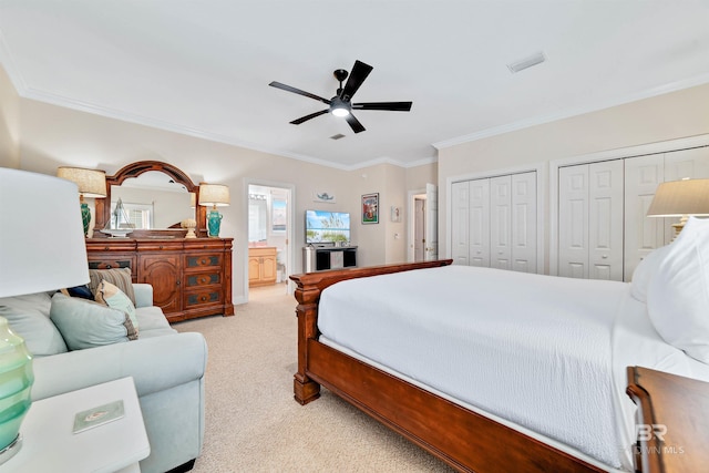
[[[123,418],[72,432],[78,412],[117,400],[123,400]],[[140,472],[137,462],[151,453],[133,378],[33,402],[20,433],[22,448],[0,473]]]

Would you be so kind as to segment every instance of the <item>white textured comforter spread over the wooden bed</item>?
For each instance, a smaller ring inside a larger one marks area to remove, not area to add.
[[[326,343],[610,469],[631,470],[625,367],[709,379],[624,282],[466,266],[352,279],[323,291],[318,328]]]

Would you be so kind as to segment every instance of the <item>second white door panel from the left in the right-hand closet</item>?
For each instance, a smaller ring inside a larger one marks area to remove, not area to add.
[[[588,165],[588,277],[623,280],[623,161]]]

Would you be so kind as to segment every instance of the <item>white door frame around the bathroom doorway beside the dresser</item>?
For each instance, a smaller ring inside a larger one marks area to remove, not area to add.
[[[287,254],[286,254],[286,290],[288,294],[294,292],[295,285],[288,276],[296,263],[296,251],[294,251],[294,232],[295,232],[295,219],[294,219],[294,209],[296,208],[296,185],[292,183],[284,183],[279,181],[269,181],[269,179],[258,179],[251,177],[244,177],[244,198],[243,200],[243,212],[244,212],[244,225],[246,228],[246,238],[244,241],[237,245],[238,249],[242,253],[242,273],[244,277],[244,299],[245,302],[248,302],[248,189],[250,186],[264,186],[264,187],[275,187],[279,189],[284,189],[288,194],[288,204],[286,206],[286,219],[287,219],[287,228],[286,228],[286,239],[287,244]]]

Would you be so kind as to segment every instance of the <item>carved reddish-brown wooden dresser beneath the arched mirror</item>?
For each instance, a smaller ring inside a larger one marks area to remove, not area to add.
[[[131,268],[171,322],[233,316],[233,238],[89,238],[92,269]]]

